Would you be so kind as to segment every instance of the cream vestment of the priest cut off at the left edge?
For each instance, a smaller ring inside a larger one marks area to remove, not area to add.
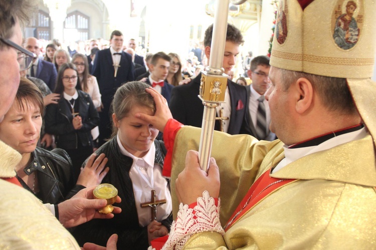
[[[16,175],[21,155],[0,141],[0,177]],[[28,190],[0,179],[0,249],[80,249],[74,237]]]

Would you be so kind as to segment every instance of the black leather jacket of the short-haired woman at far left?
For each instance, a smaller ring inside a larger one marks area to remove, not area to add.
[[[24,168],[24,172],[30,175],[37,171],[39,192],[36,196],[43,203],[58,204],[85,188],[74,183],[72,168],[71,158],[63,149],[47,151],[37,147],[32,152],[31,162]],[[24,188],[32,192],[21,178],[18,179]]]

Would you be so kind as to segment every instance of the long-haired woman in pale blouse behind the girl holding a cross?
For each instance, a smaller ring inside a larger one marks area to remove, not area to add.
[[[78,77],[80,78],[81,89],[88,93],[91,100],[93,101],[94,107],[97,111],[100,111],[102,101],[101,93],[99,92],[99,86],[97,78],[89,74],[89,63],[87,57],[81,53],[74,54],[72,58],[72,63],[76,65]],[[93,137],[94,148],[97,147],[97,139],[99,136],[99,128],[95,127],[91,130],[91,135]]]

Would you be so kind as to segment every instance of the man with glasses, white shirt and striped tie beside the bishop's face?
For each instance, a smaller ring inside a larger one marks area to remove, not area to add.
[[[270,58],[266,56],[258,56],[252,59],[250,70],[247,71],[248,77],[252,79],[252,84],[246,86],[246,89],[248,97],[247,108],[249,111],[248,124],[252,135],[259,140],[272,141],[275,139],[275,134],[269,129],[270,109],[269,102],[265,99],[265,93],[270,87],[269,61]],[[260,105],[264,108],[261,108]]]

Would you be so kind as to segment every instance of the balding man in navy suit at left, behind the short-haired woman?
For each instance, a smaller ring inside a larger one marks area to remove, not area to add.
[[[39,41],[34,37],[27,38],[24,47],[37,56],[41,53]],[[55,89],[57,74],[54,64],[40,58],[34,61],[33,66],[27,72],[28,76],[39,78],[45,82],[51,91]]]

